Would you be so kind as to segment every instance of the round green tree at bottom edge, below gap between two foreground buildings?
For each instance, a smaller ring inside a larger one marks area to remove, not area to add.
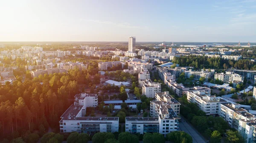
[[[131,135],[129,132],[121,132],[118,136],[120,143],[139,143],[137,135]]]

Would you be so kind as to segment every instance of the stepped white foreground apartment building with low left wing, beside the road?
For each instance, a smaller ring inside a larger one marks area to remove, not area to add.
[[[157,101],[150,101],[151,117],[125,118],[125,132],[132,134],[158,132],[166,135],[179,130],[180,103],[169,95],[169,92],[156,93],[156,99]]]

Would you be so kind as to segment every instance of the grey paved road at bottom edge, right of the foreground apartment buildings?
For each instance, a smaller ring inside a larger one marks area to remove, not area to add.
[[[202,135],[198,133],[198,131],[193,126],[191,126],[189,123],[184,121],[185,121],[184,119],[181,119],[180,131],[184,131],[189,135],[191,135],[193,139],[193,143],[207,143],[204,137],[202,137]]]

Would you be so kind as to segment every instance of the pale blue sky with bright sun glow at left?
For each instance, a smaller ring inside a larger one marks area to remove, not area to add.
[[[256,42],[256,0],[0,0],[0,41]]]

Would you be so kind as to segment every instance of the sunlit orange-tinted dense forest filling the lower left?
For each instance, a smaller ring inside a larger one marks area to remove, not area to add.
[[[99,82],[89,78],[87,70],[70,70],[68,73],[39,75],[31,79],[26,75],[10,84],[0,87],[0,138],[26,138],[33,132],[40,136],[49,126],[58,131],[60,116],[72,104],[77,93],[84,92],[84,86]],[[81,87],[82,86],[82,87]]]

